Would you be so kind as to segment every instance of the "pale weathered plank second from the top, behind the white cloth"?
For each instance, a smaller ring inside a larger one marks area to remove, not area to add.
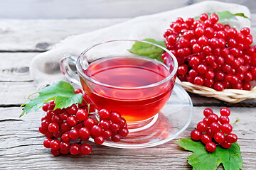
[[[129,18],[73,19],[73,20],[17,20],[0,19],[0,52],[43,52],[69,35],[127,21]],[[171,21],[170,21],[171,22]],[[256,14],[252,13],[251,33],[256,40]]]

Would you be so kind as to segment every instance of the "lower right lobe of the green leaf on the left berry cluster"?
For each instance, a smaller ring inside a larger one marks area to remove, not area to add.
[[[54,103],[55,108],[68,108],[73,103],[82,103],[82,94],[75,94],[72,97],[56,96]]]

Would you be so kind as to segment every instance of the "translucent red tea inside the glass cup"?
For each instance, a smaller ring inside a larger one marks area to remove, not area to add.
[[[95,60],[84,74],[91,81],[82,77],[80,81],[92,103],[108,111],[119,111],[129,123],[159,113],[169,100],[175,80],[174,77],[166,81],[171,72],[161,62],[138,56]]]

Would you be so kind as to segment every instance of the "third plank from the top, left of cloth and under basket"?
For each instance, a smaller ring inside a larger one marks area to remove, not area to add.
[[[0,52],[0,106],[18,106],[36,91],[36,84],[29,74],[29,62],[37,54],[38,52]],[[194,106],[256,106],[256,99],[230,104],[215,98],[189,95]]]

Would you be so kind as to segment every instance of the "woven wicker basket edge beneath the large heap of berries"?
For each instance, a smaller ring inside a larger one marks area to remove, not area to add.
[[[214,89],[206,86],[198,86],[187,81],[180,81],[178,78],[176,79],[176,83],[180,84],[183,89],[193,94],[218,98],[219,100],[228,103],[238,103],[240,101],[244,101],[245,99],[256,98],[256,86],[250,91],[238,89],[225,89],[223,91],[215,91]]]

